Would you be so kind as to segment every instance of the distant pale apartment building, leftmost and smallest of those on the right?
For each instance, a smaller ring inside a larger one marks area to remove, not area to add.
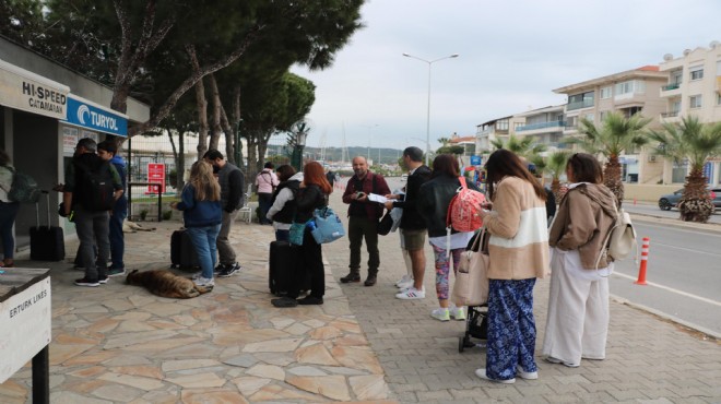
[[[544,144],[548,152],[566,148],[563,143],[566,129],[566,105],[548,106],[513,116],[517,136],[533,136],[536,144]]]

